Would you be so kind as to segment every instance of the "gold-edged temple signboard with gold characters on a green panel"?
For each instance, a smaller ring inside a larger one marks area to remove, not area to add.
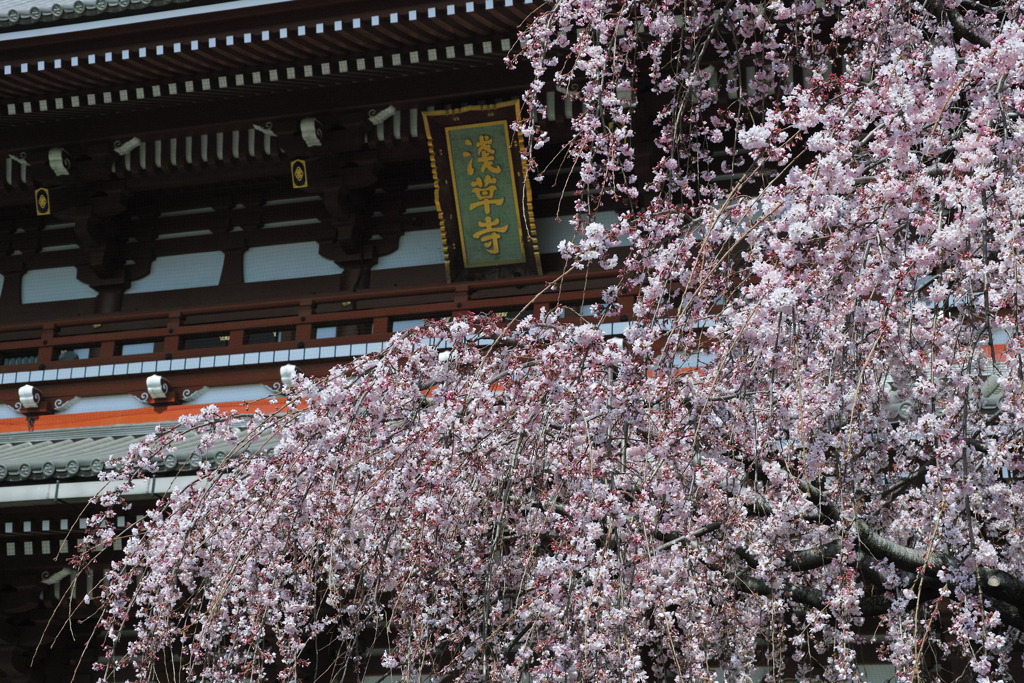
[[[519,263],[541,272],[518,119],[517,101],[423,112],[449,282]]]

